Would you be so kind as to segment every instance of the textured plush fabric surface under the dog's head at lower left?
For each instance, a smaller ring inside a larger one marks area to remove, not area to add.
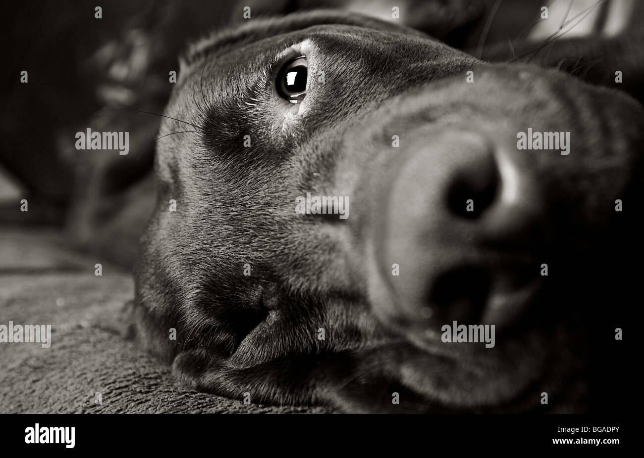
[[[51,324],[52,343],[0,343],[0,413],[262,413],[322,408],[244,405],[178,387],[169,367],[122,336],[132,276],[46,231],[0,230],[0,324]],[[97,394],[100,393],[100,403]]]

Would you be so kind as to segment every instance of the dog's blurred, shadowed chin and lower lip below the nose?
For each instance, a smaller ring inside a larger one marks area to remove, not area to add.
[[[484,343],[415,342],[421,350],[400,365],[400,382],[446,412],[575,412],[586,387],[583,362],[569,351],[562,326],[543,334]],[[552,404],[569,399],[565,405]],[[544,396],[547,394],[547,397]],[[550,399],[548,399],[550,398]]]

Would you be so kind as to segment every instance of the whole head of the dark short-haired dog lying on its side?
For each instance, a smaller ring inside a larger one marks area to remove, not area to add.
[[[357,15],[200,42],[160,131],[140,336],[194,387],[253,402],[509,411],[546,392],[578,410],[598,306],[580,265],[607,251],[642,114]],[[518,149],[528,129],[567,145]],[[307,193],[337,199],[315,214]],[[492,345],[445,342],[455,321],[495,325]]]

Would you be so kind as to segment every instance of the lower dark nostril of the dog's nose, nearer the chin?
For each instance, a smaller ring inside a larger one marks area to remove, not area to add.
[[[480,321],[491,288],[491,277],[484,268],[463,267],[448,271],[427,291],[425,304],[435,320]]]

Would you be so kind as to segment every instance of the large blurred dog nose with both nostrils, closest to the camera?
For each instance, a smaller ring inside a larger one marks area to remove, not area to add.
[[[372,252],[381,319],[503,327],[525,311],[540,283],[543,204],[512,153],[483,134],[446,131],[431,143],[419,136],[393,161]]]

